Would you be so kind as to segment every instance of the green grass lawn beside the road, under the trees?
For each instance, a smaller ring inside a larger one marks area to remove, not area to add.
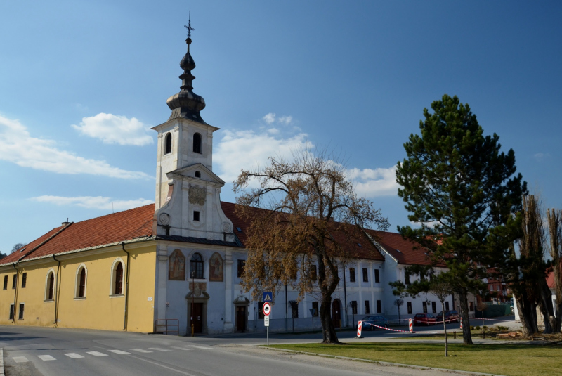
[[[350,358],[425,365],[472,372],[495,373],[508,376],[560,375],[561,346],[529,344],[449,344],[445,358],[445,344],[420,343],[355,343],[280,344],[277,349],[289,349],[315,354],[348,356]]]

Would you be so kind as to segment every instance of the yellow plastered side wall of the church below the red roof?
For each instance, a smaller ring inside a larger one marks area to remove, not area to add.
[[[144,243],[146,244],[146,243]],[[126,245],[130,254],[129,265],[129,313],[127,330],[152,332],[155,302],[155,259],[156,247],[150,245]],[[15,323],[9,320],[10,304],[14,290],[14,271],[0,269],[0,283],[8,275],[8,289],[0,290],[0,324],[39,325],[60,328],[90,328],[102,330],[123,330],[126,303],[127,254],[122,247],[107,247],[87,252],[61,255],[60,271],[55,280],[58,283],[58,322],[55,325],[55,302],[45,302],[47,275],[57,273],[58,262],[53,258],[22,262],[18,266],[18,297],[16,306],[25,303],[23,320],[15,312]],[[123,263],[123,294],[112,295],[112,274],[115,261]],[[86,268],[85,297],[77,296],[77,275],[79,268]],[[25,288],[21,288],[22,273],[27,273]],[[150,299],[152,298],[152,299]]]

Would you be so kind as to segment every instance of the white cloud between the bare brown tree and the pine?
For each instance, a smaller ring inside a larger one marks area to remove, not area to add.
[[[354,182],[355,192],[362,197],[396,195],[396,166],[388,169],[347,169],[346,176]]]

